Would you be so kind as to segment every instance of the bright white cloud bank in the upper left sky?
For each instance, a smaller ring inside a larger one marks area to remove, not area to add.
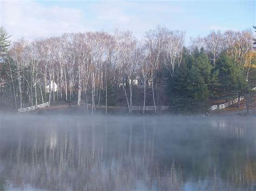
[[[1,1],[0,4],[0,25],[14,40],[89,30],[82,25],[86,19],[79,9],[46,7],[32,1]]]

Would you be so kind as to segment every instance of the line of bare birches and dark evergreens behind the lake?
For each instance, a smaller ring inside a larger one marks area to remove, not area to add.
[[[44,102],[100,107],[170,105],[173,112],[205,112],[214,100],[255,84],[252,32],[212,31],[191,39],[157,26],[137,39],[131,31],[65,33],[10,42],[1,28],[1,104]],[[144,112],[144,111],[143,111]]]

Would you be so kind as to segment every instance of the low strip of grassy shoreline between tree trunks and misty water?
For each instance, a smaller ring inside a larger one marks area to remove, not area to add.
[[[143,114],[142,111],[133,111],[132,114],[129,114],[127,107],[107,107],[107,115],[105,115],[105,106],[100,105],[97,107],[97,110],[91,113],[91,106],[89,106],[89,111],[86,111],[84,105],[77,107],[73,105],[70,107],[69,103],[55,103],[51,104],[50,108],[46,107],[45,109],[38,109],[29,112],[18,112],[15,109],[2,108],[0,112],[6,114],[23,114],[23,115],[104,115],[104,116],[202,116],[202,117],[225,117],[225,116],[256,116],[256,108],[251,108],[250,112],[247,113],[245,108],[227,108],[223,110],[208,111],[205,114],[173,114],[172,112],[158,111],[157,114],[154,111],[145,111]]]

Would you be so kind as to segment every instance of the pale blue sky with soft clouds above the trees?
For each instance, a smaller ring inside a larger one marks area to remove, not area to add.
[[[241,31],[255,25],[255,2],[224,1],[3,1],[0,25],[12,40],[33,40],[67,32],[130,30],[143,38],[157,25],[190,37],[212,30]]]

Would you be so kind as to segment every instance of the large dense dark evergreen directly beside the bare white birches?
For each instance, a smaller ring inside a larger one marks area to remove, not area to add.
[[[207,59],[206,61],[204,59],[204,53],[200,53],[198,49],[190,55],[184,48],[183,60],[169,86],[171,106],[174,111],[203,113],[207,110],[208,89],[204,78],[208,79],[211,65]]]

